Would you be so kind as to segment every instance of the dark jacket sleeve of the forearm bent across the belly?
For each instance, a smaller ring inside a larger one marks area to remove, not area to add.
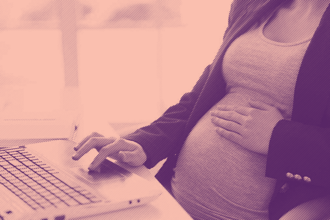
[[[311,179],[309,184],[329,187],[330,128],[281,120],[269,142],[266,176],[286,179],[286,174]]]

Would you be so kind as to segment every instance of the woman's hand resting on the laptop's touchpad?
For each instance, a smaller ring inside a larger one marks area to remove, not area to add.
[[[141,145],[115,137],[105,138],[103,135],[96,132],[87,136],[75,148],[77,153],[72,157],[74,160],[79,160],[85,153],[95,148],[99,154],[88,167],[89,170],[99,171],[99,165],[107,158],[111,157],[120,162],[128,163],[131,166],[141,166],[147,156]]]

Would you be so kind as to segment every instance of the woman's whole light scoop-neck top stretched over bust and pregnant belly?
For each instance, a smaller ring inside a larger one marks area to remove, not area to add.
[[[258,98],[290,120],[296,77],[310,43],[279,43],[264,37],[264,25],[236,39],[226,51],[226,96],[203,116],[180,152],[172,189],[194,219],[268,219],[275,179],[265,177],[267,156],[218,135],[210,112],[218,105]]]

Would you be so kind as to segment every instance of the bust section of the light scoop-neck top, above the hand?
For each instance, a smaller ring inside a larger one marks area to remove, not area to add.
[[[310,39],[279,43],[263,35],[264,25],[235,40],[224,56],[227,93],[260,97],[290,120],[294,87]]]

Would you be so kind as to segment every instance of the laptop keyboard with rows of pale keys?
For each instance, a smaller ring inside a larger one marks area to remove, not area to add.
[[[33,209],[76,206],[97,201],[80,186],[70,186],[58,172],[25,147],[0,150],[0,183]]]

